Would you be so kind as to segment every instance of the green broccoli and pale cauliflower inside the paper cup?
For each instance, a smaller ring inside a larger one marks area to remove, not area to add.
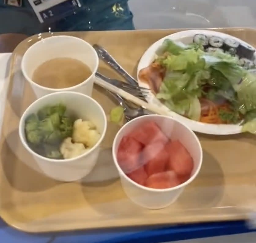
[[[90,150],[99,140],[90,121],[65,115],[62,104],[45,106],[25,120],[25,134],[30,148],[50,159],[70,159]]]

